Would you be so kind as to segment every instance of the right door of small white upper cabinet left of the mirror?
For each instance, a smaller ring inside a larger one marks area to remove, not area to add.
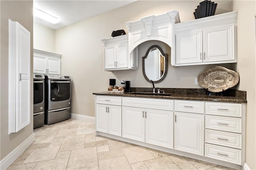
[[[128,45],[116,45],[116,68],[128,67]]]

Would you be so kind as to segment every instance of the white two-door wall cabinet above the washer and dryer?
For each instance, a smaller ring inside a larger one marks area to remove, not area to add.
[[[34,73],[60,74],[61,55],[34,49]]]

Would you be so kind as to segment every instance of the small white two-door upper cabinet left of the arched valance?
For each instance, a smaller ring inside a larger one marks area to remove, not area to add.
[[[138,69],[138,48],[128,54],[128,35],[102,40],[104,44],[104,70]]]

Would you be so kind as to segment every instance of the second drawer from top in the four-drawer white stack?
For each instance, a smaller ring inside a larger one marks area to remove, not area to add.
[[[242,119],[205,115],[205,128],[242,133]]]

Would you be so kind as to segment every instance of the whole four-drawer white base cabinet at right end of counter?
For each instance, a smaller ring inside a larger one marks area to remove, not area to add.
[[[205,156],[242,165],[245,155],[243,105],[206,102],[205,111]]]

